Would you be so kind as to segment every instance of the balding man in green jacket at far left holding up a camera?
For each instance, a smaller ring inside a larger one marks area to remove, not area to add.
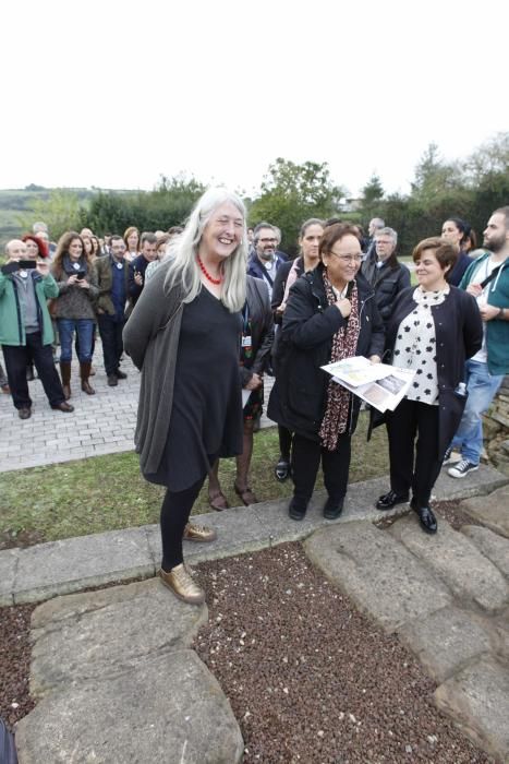
[[[31,261],[26,244],[12,239],[5,247],[8,263],[0,268],[0,345],[12,402],[20,419],[32,415],[26,381],[27,363],[35,363],[51,408],[73,411],[66,403],[51,353],[53,330],[47,300],[59,294],[49,265]]]

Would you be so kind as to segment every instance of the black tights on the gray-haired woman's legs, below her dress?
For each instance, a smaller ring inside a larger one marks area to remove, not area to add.
[[[182,552],[182,537],[185,525],[190,518],[191,510],[196,501],[205,475],[197,482],[186,488],[184,491],[172,492],[167,489],[161,505],[161,539],[162,539],[162,563],[163,571],[169,573],[172,568],[180,565],[184,561]]]

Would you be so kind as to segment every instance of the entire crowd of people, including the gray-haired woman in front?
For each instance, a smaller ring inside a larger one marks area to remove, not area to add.
[[[434,534],[439,471],[447,464],[462,478],[478,468],[482,415],[509,372],[509,206],[490,216],[481,250],[458,217],[444,222],[441,236],[416,242],[413,286],[397,256],[398,234],[380,218],[367,237],[339,218],[311,218],[294,260],[280,246],[279,228],[266,220],[247,228],[242,200],[225,189],[209,189],[183,228],[141,234],[131,226],[104,238],[83,229],[53,246],[36,224],[7,246],[2,391],[28,418],[34,365],[50,406],[71,413],[73,346],[87,395],[95,394],[96,333],[109,386],[125,378],[120,363],[129,354],[141,371],[142,473],[166,488],[160,577],[187,602],[205,595],[182,541],[215,538],[190,515],[207,477],[211,508],[228,508],[220,458],[237,458],[241,502],[257,501],[250,465],[265,375],[275,377],[267,407],[279,433],[275,478],[293,481],[289,516],[305,516],[322,465],[324,516],[334,520],[348,491],[361,401],[322,367],[364,356],[412,370],[397,408],[372,411],[372,426],[387,427],[390,457],[389,490],[376,506],[410,501]],[[461,457],[451,464],[455,449]]]

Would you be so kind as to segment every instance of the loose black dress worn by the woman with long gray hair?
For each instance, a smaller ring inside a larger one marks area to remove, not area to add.
[[[241,331],[240,313],[206,287],[184,306],[168,440],[150,482],[183,491],[217,456],[242,453]]]

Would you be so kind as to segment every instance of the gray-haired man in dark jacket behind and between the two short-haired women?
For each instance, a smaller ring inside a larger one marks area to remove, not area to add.
[[[399,293],[410,286],[410,271],[398,261],[396,247],[398,234],[393,228],[380,228],[375,232],[375,248],[362,264],[362,274],[375,290],[376,305],[387,323]]]

